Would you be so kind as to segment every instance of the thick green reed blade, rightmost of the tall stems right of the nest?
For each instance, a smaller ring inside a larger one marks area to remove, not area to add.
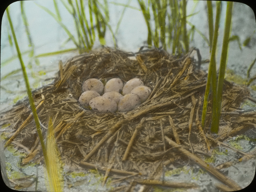
[[[226,65],[227,65],[228,42],[229,42],[229,35],[231,31],[232,8],[233,8],[233,2],[232,1],[227,2],[225,29],[224,29],[223,42],[222,42],[222,51],[220,56],[220,70],[219,70],[218,86],[217,86],[217,101],[218,101],[216,103],[217,118],[216,118],[216,121],[212,123],[212,127],[211,127],[211,131],[215,133],[218,133],[218,130],[219,130],[222,88],[223,88],[224,76],[225,76]]]

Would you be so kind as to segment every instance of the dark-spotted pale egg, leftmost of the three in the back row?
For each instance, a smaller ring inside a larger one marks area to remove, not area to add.
[[[104,85],[99,79],[91,78],[84,81],[82,86],[82,91],[96,91],[100,95],[103,93]]]

